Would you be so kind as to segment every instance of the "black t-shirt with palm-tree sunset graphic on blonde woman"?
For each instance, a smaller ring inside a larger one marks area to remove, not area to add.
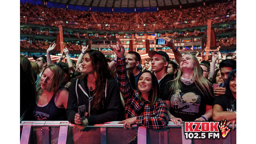
[[[171,94],[169,91],[170,86],[171,82],[167,84],[162,98],[170,100],[170,113],[177,118],[181,118],[182,121],[194,121],[205,114],[206,105],[213,105],[214,98],[203,88],[200,87],[199,89],[195,83],[188,86],[182,83],[179,91],[180,95],[178,92]],[[213,93],[211,86],[210,89]]]

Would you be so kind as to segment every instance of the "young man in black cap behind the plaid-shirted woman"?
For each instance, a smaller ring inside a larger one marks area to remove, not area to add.
[[[167,73],[170,58],[166,52],[154,50],[149,51],[148,56],[152,58],[152,71],[155,72],[158,80],[161,97],[164,93],[166,83],[173,80],[173,77]]]

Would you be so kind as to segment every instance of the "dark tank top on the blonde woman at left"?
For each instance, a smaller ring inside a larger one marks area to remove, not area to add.
[[[56,105],[56,100],[59,96],[61,90],[56,93],[57,96],[52,97],[48,104],[41,106],[36,103],[32,115],[35,120],[45,120],[45,121],[66,121],[67,114],[66,109],[59,108]]]

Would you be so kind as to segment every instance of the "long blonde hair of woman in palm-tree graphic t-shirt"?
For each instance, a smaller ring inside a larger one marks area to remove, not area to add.
[[[202,72],[202,69],[201,69],[201,67],[199,65],[199,62],[198,62],[197,58],[193,54],[191,54],[191,53],[185,53],[185,54],[188,54],[188,55],[191,56],[193,64],[195,66],[195,68],[194,68],[194,82],[195,82],[197,88],[201,92],[202,92],[202,90],[200,89],[200,87],[203,88],[203,91],[208,92],[211,97],[214,97],[214,95],[213,95],[213,93],[211,91],[211,88],[210,88],[212,86],[212,84],[203,76],[203,72]],[[179,64],[180,64],[180,61],[179,61]],[[179,65],[179,69],[181,69],[180,65]],[[169,91],[171,92],[170,96],[172,94],[176,94],[176,92],[178,92],[178,94],[180,95],[179,90],[180,90],[180,88],[182,86],[181,80],[180,80],[181,76],[182,76],[182,71],[179,70],[178,74],[177,74],[177,77],[174,80],[172,80],[173,83],[172,83],[172,85],[171,85],[171,87],[169,89]],[[171,82],[171,81],[169,81],[169,82]],[[205,97],[205,95],[204,95],[204,97]]]

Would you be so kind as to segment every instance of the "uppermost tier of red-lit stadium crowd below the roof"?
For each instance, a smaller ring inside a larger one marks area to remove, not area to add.
[[[20,3],[20,22],[87,30],[161,30],[207,25],[236,20],[233,2],[158,12],[107,13],[48,8]],[[98,26],[100,24],[100,26]]]

